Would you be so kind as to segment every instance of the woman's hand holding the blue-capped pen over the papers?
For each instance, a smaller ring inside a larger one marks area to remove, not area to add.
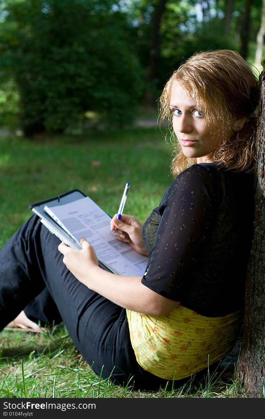
[[[111,231],[115,229],[116,238],[123,243],[128,243],[131,248],[144,256],[149,256],[144,246],[142,237],[142,224],[133,215],[121,215],[121,220],[118,220],[117,214],[111,220]]]

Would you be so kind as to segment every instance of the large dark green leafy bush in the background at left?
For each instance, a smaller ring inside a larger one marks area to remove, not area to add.
[[[2,2],[3,5],[3,2]],[[111,0],[5,1],[3,82],[18,86],[24,133],[62,132],[86,111],[111,124],[134,117],[144,72]]]

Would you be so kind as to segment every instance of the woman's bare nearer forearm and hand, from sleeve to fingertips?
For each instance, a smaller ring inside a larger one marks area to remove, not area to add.
[[[162,297],[141,283],[142,277],[123,277],[106,272],[98,266],[93,247],[82,239],[82,250],[61,243],[63,262],[70,272],[91,290],[129,310],[165,316],[178,307],[177,301]]]

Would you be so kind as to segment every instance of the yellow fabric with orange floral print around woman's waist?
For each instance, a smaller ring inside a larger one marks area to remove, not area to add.
[[[201,316],[182,305],[168,316],[126,312],[137,362],[167,380],[189,377],[221,360],[233,348],[243,322],[242,310],[223,317]]]

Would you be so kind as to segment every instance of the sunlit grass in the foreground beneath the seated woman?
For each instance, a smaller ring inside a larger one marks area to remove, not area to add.
[[[117,386],[103,380],[77,352],[63,325],[51,332],[2,331],[0,398],[242,398],[236,373],[217,368],[172,388],[136,391],[129,382]]]

